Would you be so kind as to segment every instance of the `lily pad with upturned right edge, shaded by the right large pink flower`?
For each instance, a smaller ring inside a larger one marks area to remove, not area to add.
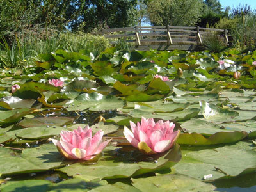
[[[157,163],[154,161],[155,158],[157,159]],[[107,147],[97,164],[88,166],[76,163],[60,170],[70,176],[78,173],[80,175],[92,175],[102,179],[127,178],[133,175],[156,172],[163,167],[166,168],[166,166],[170,167],[177,163],[179,159],[180,152],[178,145],[175,145],[167,154],[161,154],[161,157],[148,157],[145,154],[141,154],[138,150],[124,151],[121,148]]]

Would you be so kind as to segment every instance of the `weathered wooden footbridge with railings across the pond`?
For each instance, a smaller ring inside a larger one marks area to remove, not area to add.
[[[136,26],[102,29],[102,35],[111,38],[112,44],[123,38],[125,42],[134,42],[133,48],[138,50],[196,50],[202,47],[207,36],[219,36],[228,45],[227,33],[227,29],[200,28],[199,26]]]

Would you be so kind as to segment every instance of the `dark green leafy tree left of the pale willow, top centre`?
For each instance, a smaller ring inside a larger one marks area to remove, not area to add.
[[[70,27],[74,30],[92,31],[95,28],[118,28],[134,25],[132,10],[136,0],[90,0],[78,1],[79,16]]]

